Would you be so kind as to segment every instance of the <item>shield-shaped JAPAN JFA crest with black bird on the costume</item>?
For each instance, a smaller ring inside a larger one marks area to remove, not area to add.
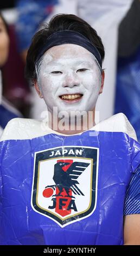
[[[35,153],[31,205],[61,227],[96,209],[98,148],[59,147]]]

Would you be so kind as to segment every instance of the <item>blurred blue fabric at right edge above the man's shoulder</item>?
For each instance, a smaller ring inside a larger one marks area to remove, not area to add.
[[[140,48],[129,58],[118,59],[114,113],[124,113],[140,141]]]

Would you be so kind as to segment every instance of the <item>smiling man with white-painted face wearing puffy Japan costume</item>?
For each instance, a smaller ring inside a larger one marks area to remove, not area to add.
[[[122,113],[94,121],[103,59],[97,32],[75,15],[34,35],[26,77],[47,118],[17,118],[3,132],[1,244],[139,244],[135,131]]]

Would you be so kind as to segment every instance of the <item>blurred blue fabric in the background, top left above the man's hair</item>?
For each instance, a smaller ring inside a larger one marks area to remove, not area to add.
[[[19,51],[26,50],[30,46],[31,38],[58,2],[58,0],[17,1],[16,34]]]

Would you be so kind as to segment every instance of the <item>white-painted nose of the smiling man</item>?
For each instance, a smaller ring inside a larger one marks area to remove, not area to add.
[[[67,74],[65,80],[63,81],[62,87],[73,88],[74,86],[79,86],[80,81],[77,74]]]

